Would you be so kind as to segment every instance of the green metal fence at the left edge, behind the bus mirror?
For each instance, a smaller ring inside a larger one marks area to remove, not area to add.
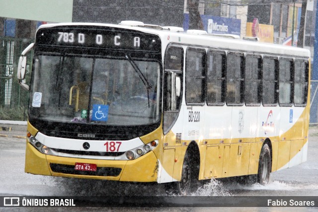
[[[0,37],[0,120],[26,120],[29,91],[16,78],[17,64],[22,51],[33,41]],[[27,54],[26,84],[30,84],[33,52]]]

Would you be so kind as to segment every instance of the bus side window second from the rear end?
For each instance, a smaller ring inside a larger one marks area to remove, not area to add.
[[[293,59],[280,58],[279,60],[279,104],[293,104],[294,90],[294,63]]]

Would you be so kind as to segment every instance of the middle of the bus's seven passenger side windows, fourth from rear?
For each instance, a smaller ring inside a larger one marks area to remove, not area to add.
[[[245,104],[260,105],[262,95],[262,58],[246,55],[245,58]]]

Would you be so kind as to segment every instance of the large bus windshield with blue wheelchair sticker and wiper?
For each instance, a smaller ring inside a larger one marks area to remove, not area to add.
[[[69,123],[112,126],[159,122],[158,61],[134,58],[37,55],[29,116]]]

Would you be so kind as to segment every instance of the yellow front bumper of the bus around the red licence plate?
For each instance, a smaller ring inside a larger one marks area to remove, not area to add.
[[[97,171],[76,171],[75,163],[92,163]],[[158,159],[153,151],[135,160],[100,160],[61,157],[39,152],[26,144],[25,172],[39,175],[116,180],[126,182],[157,182]]]

